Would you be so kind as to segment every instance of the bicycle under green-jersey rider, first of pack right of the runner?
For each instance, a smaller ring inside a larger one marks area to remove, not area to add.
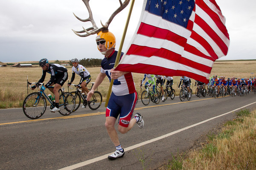
[[[141,93],[141,101],[142,101],[143,105],[148,105],[150,100],[153,103],[158,104],[160,102],[159,92],[156,91],[157,94],[155,96],[153,91],[150,91],[149,88],[150,87],[147,87],[147,89]]]

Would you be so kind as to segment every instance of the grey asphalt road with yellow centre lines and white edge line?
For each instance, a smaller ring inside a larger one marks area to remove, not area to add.
[[[143,170],[140,159],[145,169],[155,169],[215,125],[233,119],[234,110],[246,105],[254,109],[255,99],[252,93],[216,99],[193,95],[184,102],[175,96],[148,106],[139,100],[135,113],[143,115],[145,126],[118,133],[125,156],[114,161],[107,159],[115,147],[105,129],[104,103],[96,111],[80,106],[70,116],[51,113],[48,107],[36,120],[28,119],[22,108],[2,109],[0,170]]]

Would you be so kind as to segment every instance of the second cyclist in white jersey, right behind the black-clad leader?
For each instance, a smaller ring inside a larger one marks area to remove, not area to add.
[[[91,80],[90,73],[89,73],[89,71],[87,71],[87,69],[83,65],[80,65],[78,63],[77,58],[71,59],[71,62],[73,64],[72,77],[71,77],[70,82],[67,83],[67,85],[70,86],[72,84],[72,82],[74,81],[76,74],[78,74],[81,77],[80,82],[78,84],[79,85],[78,88],[79,87],[82,88],[82,93],[84,93],[84,97],[86,98],[86,94],[89,92],[89,90],[87,88],[87,84]],[[82,108],[85,108],[85,106],[83,105]]]

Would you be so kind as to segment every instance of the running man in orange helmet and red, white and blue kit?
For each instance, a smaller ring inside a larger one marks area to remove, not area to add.
[[[114,127],[116,119],[119,116],[118,130],[120,133],[127,133],[137,123],[140,128],[144,126],[144,121],[140,113],[136,113],[132,118],[138,96],[131,72],[114,71],[113,67],[116,61],[117,51],[115,51],[116,38],[110,31],[100,31],[96,37],[98,50],[105,56],[102,59],[100,73],[92,89],[87,94],[87,101],[96,88],[107,76],[109,80],[114,79],[112,94],[106,109],[105,127],[113,144],[116,147],[115,153],[108,156],[108,159],[117,159],[124,156],[125,151],[121,147],[119,138]],[[123,53],[121,54],[121,56]]]

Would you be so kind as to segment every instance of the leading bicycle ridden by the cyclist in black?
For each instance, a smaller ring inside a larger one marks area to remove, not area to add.
[[[28,85],[32,85],[32,84],[36,84],[39,88],[39,91],[33,92],[28,96],[26,96],[26,98],[24,99],[22,108],[23,108],[24,114],[29,119],[38,119],[39,117],[43,116],[44,112],[46,111],[46,108],[47,108],[46,99],[49,101],[51,109],[55,107],[55,101],[52,101],[49,98],[49,96],[47,96],[45,91],[40,90],[41,86],[44,85],[44,83],[28,82]],[[48,88],[53,88],[53,87],[48,87]],[[59,92],[61,94],[59,98],[60,111],[58,112],[63,116],[70,115],[73,112],[76,105],[74,96],[69,92],[64,92],[64,88],[61,88]]]

